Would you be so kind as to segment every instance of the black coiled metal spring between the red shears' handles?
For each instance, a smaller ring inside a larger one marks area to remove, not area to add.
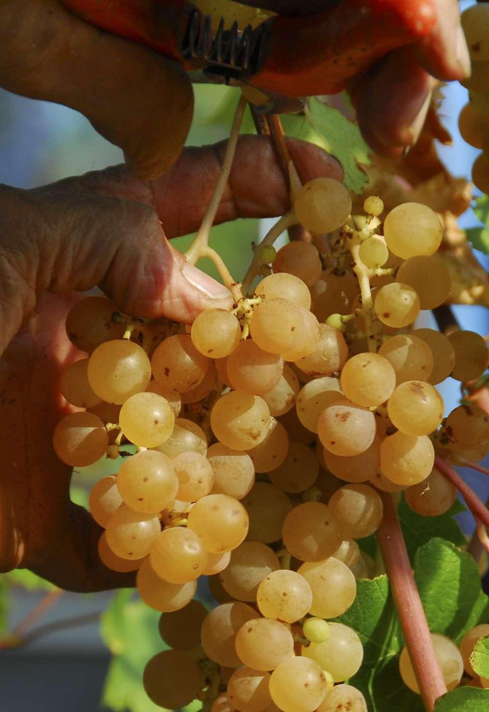
[[[213,32],[212,18],[198,9],[190,11],[181,41],[181,53],[185,59],[202,63],[204,73],[230,78],[245,79],[257,73],[262,66],[267,50],[269,23],[265,21],[256,28],[247,25],[240,30],[232,23],[225,30],[224,18],[220,19],[217,31]]]

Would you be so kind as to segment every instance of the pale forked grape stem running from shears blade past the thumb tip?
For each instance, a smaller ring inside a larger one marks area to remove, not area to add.
[[[222,159],[219,178],[217,179],[217,183],[215,184],[212,197],[210,198],[202,223],[200,224],[200,228],[198,229],[197,234],[195,235],[193,243],[190,245],[190,247],[185,253],[187,262],[190,262],[190,264],[193,265],[195,265],[195,263],[201,257],[209,257],[215,264],[217,271],[220,273],[222,281],[232,293],[232,296],[235,301],[237,301],[242,296],[240,286],[232,279],[229,271],[227,270],[227,267],[225,266],[224,262],[217,254],[217,252],[215,252],[212,248],[209,247],[209,236],[210,229],[213,226],[213,222],[217,214],[217,209],[220,206],[222,195],[224,194],[225,187],[227,185],[227,179],[229,178],[232,160],[235,156],[237,140],[240,135],[240,127],[242,124],[242,119],[246,106],[247,101],[246,99],[244,99],[243,96],[241,96],[239,102],[237,103],[235,116],[232,120],[230,137],[227,141],[224,158]]]

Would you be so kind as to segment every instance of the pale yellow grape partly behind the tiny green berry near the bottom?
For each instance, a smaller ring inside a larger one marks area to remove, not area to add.
[[[302,655],[316,661],[331,674],[335,682],[343,682],[360,669],[363,660],[362,643],[355,631],[342,623],[329,622],[329,629],[328,640],[303,647]]]

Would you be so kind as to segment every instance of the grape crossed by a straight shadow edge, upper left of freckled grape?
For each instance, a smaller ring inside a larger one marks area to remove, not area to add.
[[[269,546],[259,541],[244,541],[232,551],[230,563],[219,577],[232,598],[256,601],[260,582],[279,568],[279,559]]]

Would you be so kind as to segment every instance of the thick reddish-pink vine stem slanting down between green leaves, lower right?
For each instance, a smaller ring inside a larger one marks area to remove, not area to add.
[[[436,700],[446,693],[446,685],[436,661],[394,500],[387,492],[379,494],[384,517],[377,529],[377,540],[421,698],[426,712],[433,712]]]

